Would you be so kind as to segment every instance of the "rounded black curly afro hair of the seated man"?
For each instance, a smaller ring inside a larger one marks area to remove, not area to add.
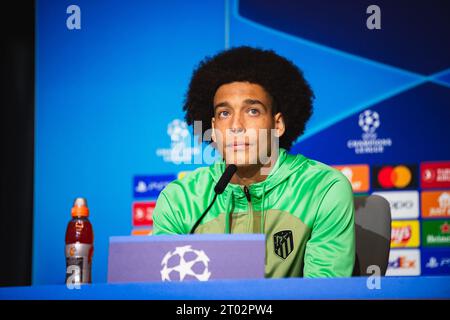
[[[200,62],[192,74],[183,105],[189,125],[202,121],[202,132],[194,134],[203,136],[211,128],[217,89],[235,81],[258,84],[269,93],[273,101],[272,115],[281,112],[286,126],[280,137],[280,147],[289,150],[305,131],[312,115],[314,93],[303,72],[272,50],[235,47]]]

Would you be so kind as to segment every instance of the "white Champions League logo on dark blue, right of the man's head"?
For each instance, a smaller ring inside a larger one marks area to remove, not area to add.
[[[378,112],[364,110],[359,114],[358,125],[362,130],[362,140],[347,141],[347,148],[354,149],[355,154],[383,153],[385,148],[392,146],[390,138],[377,138],[376,130],[381,125]]]

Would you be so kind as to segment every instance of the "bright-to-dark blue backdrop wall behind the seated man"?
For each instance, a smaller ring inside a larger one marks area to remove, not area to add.
[[[81,29],[66,24],[74,4]],[[33,284],[64,282],[64,233],[78,196],[94,226],[93,281],[106,281],[108,239],[131,234],[133,203],[155,200],[199,166],[175,163],[183,159],[171,150],[196,156],[198,145],[177,136],[181,105],[197,63],[225,48],[273,49],[304,71],[315,109],[292,153],[330,165],[450,160],[449,4],[378,1],[381,29],[369,30],[370,4],[38,0]],[[365,139],[359,119],[369,109],[380,122]],[[391,144],[348,146],[367,139]],[[423,252],[431,256],[444,261],[450,250]]]

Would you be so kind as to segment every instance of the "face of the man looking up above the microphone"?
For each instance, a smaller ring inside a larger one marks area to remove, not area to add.
[[[261,164],[261,159],[271,155],[274,135],[284,133],[281,114],[272,115],[270,95],[249,82],[232,82],[217,89],[212,127],[226,163],[241,166]]]

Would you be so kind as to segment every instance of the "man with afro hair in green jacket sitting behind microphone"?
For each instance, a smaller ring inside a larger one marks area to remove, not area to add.
[[[351,276],[349,181],[323,163],[288,154],[312,115],[313,98],[302,71],[272,50],[235,47],[205,58],[183,110],[194,133],[211,140],[222,158],[167,185],[153,212],[153,234],[263,233],[266,277]],[[237,171],[216,195],[231,164]]]

